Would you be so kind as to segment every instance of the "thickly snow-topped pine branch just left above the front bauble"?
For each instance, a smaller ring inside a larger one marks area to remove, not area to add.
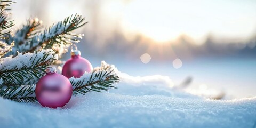
[[[27,80],[40,78],[47,68],[46,64],[58,59],[53,50],[41,50],[34,53],[19,53],[16,57],[0,59],[0,78],[4,85],[26,84]]]

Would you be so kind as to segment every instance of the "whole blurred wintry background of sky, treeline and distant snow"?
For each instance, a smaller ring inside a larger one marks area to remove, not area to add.
[[[94,67],[105,60],[132,76],[169,76],[199,95],[256,95],[255,0],[23,0],[11,12],[17,28],[34,17],[48,27],[83,15],[77,46]]]

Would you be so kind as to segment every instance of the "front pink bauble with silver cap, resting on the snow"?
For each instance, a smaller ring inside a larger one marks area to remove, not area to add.
[[[46,69],[46,75],[36,84],[36,98],[44,107],[63,107],[71,96],[72,85],[67,77],[56,73],[56,68]]]

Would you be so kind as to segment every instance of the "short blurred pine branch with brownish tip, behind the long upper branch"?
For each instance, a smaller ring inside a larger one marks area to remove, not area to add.
[[[27,49],[30,48],[29,41],[32,37],[39,33],[39,29],[42,28],[42,21],[39,21],[38,18],[29,19],[26,25],[23,25],[21,29],[18,29],[15,32],[6,34],[5,37],[9,38],[6,39],[5,42],[7,44],[11,44],[12,42],[15,43],[15,46],[12,47],[12,51],[7,53],[8,55],[17,55],[18,52],[25,53]]]

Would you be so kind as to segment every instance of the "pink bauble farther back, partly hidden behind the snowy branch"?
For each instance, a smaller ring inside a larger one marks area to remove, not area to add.
[[[71,52],[71,58],[67,60],[62,68],[62,75],[66,76],[67,78],[81,77],[85,71],[90,73],[93,71],[91,63],[86,60],[85,58],[81,57],[81,53],[78,50]]]

